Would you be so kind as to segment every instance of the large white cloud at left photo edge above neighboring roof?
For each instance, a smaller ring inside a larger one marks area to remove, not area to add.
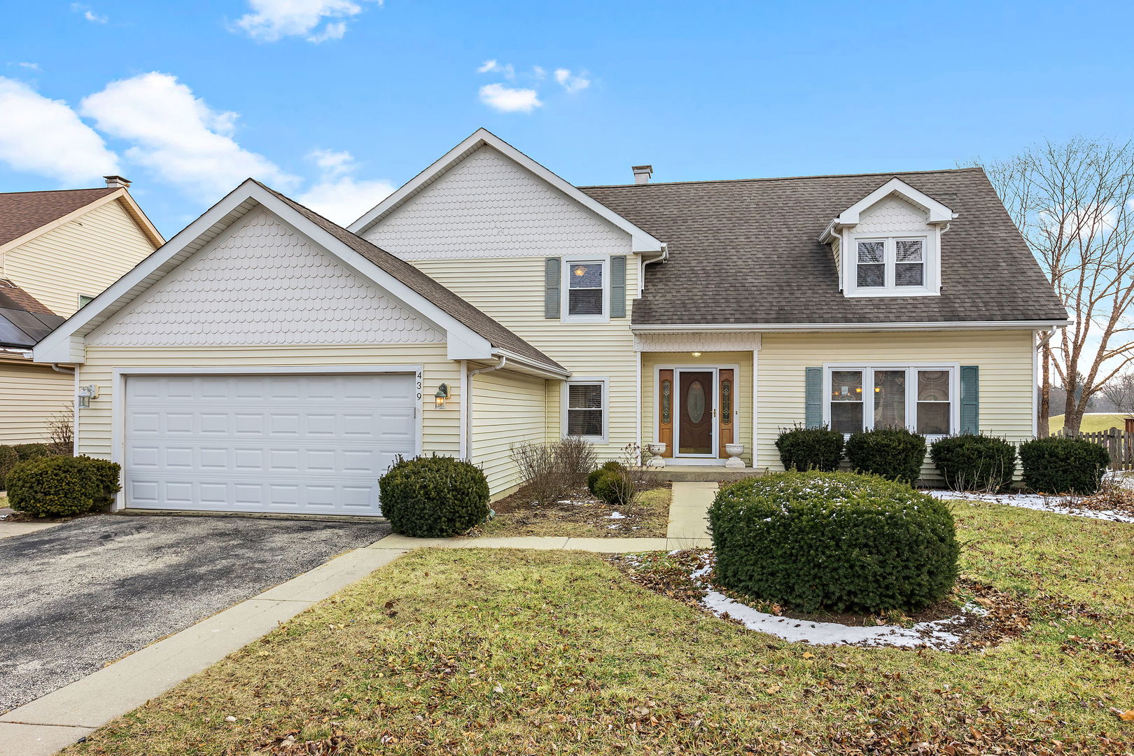
[[[62,100],[0,76],[0,161],[77,185],[118,172],[118,158]]]

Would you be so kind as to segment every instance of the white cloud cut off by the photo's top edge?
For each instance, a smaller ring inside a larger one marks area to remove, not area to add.
[[[348,18],[362,12],[363,2],[382,0],[248,0],[252,12],[237,19],[236,26],[253,40],[276,42],[285,36],[302,36],[308,42],[340,40]]]

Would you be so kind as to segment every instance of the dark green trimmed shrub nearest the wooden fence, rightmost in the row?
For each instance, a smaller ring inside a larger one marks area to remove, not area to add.
[[[1019,444],[1024,485],[1040,493],[1092,494],[1110,467],[1106,447],[1082,439],[1033,439]]]

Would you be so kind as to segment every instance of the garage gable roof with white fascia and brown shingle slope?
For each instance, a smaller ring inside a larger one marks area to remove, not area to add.
[[[569,371],[557,362],[413,265],[253,179],[247,179],[226,195],[56,329],[36,346],[35,360],[83,362],[71,337],[85,335],[108,321],[237,219],[259,206],[280,216],[315,244],[338,255],[349,267],[371,278],[393,297],[446,330],[450,358],[476,359],[503,354],[533,369],[569,375]]]

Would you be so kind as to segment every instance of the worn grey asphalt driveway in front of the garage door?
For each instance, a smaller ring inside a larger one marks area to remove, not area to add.
[[[379,523],[88,517],[0,541],[0,713],[389,533]]]

